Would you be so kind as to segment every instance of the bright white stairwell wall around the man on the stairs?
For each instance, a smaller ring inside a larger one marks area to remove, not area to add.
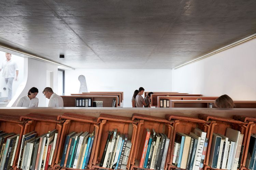
[[[5,52],[0,51],[0,64],[5,60],[6,60]],[[14,96],[16,94],[16,91],[17,91],[16,89],[23,82],[24,58],[12,54],[12,60],[14,60],[17,63],[18,69],[19,69],[18,79],[17,79],[17,81],[13,81],[13,87],[12,87],[13,91],[12,91],[12,93],[13,93],[13,96]],[[2,94],[1,95],[2,97],[7,97],[8,96],[7,84],[5,83],[5,79],[2,77],[2,73],[3,73],[3,71],[0,72],[0,92]],[[6,88],[6,90],[3,90],[4,87]]]

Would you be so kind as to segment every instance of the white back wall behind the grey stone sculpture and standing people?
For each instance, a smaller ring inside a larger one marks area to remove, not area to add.
[[[171,69],[76,69],[65,71],[65,95],[79,93],[79,75],[88,91],[124,91],[124,107],[131,107],[134,90],[170,91]]]

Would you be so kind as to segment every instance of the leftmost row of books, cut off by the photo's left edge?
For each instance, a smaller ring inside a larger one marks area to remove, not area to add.
[[[18,141],[19,134],[0,131],[0,169],[13,166]]]

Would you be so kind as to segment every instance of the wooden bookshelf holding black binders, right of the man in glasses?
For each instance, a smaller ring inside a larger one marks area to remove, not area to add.
[[[103,107],[112,107],[113,99],[117,101],[117,96],[61,96],[64,107],[75,107],[76,98],[91,98],[91,106],[94,101],[103,101]],[[117,102],[115,107],[117,107]],[[85,108],[85,107],[82,107]]]

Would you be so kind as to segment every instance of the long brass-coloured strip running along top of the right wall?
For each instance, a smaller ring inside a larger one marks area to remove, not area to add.
[[[195,62],[197,62],[197,61],[199,61],[199,60],[202,60],[202,59],[204,59],[204,58],[210,57],[210,56],[212,56],[212,55],[214,55],[214,54],[217,54],[217,53],[222,52],[222,51],[224,51],[224,50],[227,50],[227,49],[230,49],[230,48],[232,48],[232,47],[238,46],[238,45],[240,45],[240,44],[243,44],[243,43],[245,43],[245,42],[247,42],[247,41],[250,41],[250,40],[252,40],[252,39],[255,39],[255,38],[256,38],[256,34],[253,34],[253,35],[248,36],[248,37],[246,37],[246,38],[243,38],[243,39],[241,39],[241,40],[239,40],[239,41],[236,41],[236,42],[234,42],[234,43],[232,43],[232,44],[230,44],[230,45],[227,45],[227,46],[222,47],[222,48],[220,48],[220,49],[218,49],[218,50],[215,50],[215,51],[213,51],[213,52],[210,52],[210,53],[208,53],[208,54],[205,54],[205,55],[203,55],[203,56],[201,56],[201,57],[195,58],[194,60],[191,60],[191,61],[189,61],[189,62],[187,62],[187,63],[182,64],[182,65],[179,65],[179,66],[175,67],[174,69],[178,69],[178,68],[181,68],[181,67],[183,67],[183,66],[189,65],[189,64],[191,64],[191,63],[195,63]]]

